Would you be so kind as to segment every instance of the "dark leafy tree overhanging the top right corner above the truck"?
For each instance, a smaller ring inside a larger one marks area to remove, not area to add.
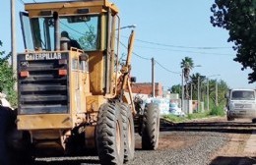
[[[233,59],[241,63],[242,71],[251,68],[249,83],[256,82],[256,1],[216,0],[211,11],[214,27],[224,27],[229,31],[228,42],[233,42],[237,51]]]

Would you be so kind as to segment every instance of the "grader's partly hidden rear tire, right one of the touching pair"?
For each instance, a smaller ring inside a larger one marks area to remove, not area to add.
[[[126,103],[120,103],[119,107],[123,118],[124,163],[126,163],[134,158],[134,121],[132,111]]]

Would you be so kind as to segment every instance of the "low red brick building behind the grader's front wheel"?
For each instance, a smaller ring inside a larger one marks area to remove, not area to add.
[[[152,83],[132,83],[132,92],[152,95]],[[162,96],[161,83],[155,83],[155,96]]]

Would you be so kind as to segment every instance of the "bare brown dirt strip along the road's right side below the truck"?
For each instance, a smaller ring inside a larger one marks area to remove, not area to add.
[[[250,120],[235,120],[222,122],[226,129],[228,140],[224,147],[212,156],[211,165],[253,165],[256,164],[256,124]]]

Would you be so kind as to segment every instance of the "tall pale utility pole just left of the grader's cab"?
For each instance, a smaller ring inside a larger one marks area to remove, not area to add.
[[[11,0],[11,51],[12,51],[12,68],[14,78],[17,73],[17,52],[16,52],[16,30],[15,30],[15,0]],[[17,89],[17,83],[14,88]]]

